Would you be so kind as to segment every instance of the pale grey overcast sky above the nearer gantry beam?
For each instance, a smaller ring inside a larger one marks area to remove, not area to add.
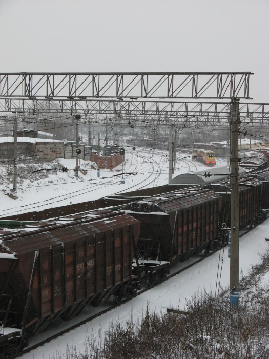
[[[0,0],[0,72],[251,71],[269,103],[269,0]]]

